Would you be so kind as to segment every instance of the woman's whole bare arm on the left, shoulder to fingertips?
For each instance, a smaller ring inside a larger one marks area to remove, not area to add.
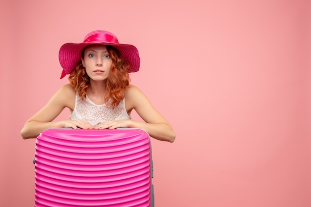
[[[26,121],[20,132],[22,138],[36,138],[42,131],[48,128],[92,127],[90,124],[82,122],[82,120],[53,121],[65,107],[74,108],[75,96],[76,93],[70,84],[59,89],[42,109]]]

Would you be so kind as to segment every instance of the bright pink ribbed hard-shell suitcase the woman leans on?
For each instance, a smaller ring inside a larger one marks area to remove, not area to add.
[[[45,130],[36,141],[35,207],[153,207],[152,164],[141,129]]]

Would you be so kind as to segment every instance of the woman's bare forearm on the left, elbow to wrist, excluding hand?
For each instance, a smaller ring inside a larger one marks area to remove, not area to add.
[[[37,138],[41,132],[49,128],[64,127],[61,121],[40,122],[28,121],[22,128],[20,134],[23,139]]]

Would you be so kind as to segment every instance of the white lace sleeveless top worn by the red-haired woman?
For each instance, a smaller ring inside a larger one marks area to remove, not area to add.
[[[83,119],[93,126],[106,121],[131,119],[126,112],[124,99],[112,109],[108,108],[106,104],[94,104],[87,96],[82,100],[78,94],[76,95],[74,111],[69,118],[71,120]]]

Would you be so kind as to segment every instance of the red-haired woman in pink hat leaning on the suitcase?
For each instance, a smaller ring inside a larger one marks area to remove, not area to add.
[[[173,142],[175,133],[147,97],[130,85],[129,72],[139,70],[138,50],[119,44],[115,35],[97,30],[79,44],[60,49],[61,78],[69,74],[70,84],[60,88],[51,100],[25,123],[23,139],[36,138],[48,128],[115,129],[141,128],[157,140]],[[70,120],[53,121],[64,108]],[[135,109],[145,122],[131,119]]]

